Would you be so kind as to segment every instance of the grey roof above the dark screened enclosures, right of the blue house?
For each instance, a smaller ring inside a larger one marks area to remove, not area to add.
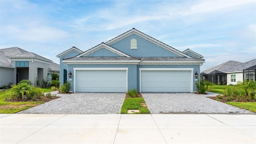
[[[212,68],[209,68],[207,70],[204,70],[202,72],[206,73],[206,74],[209,74],[210,72],[214,71],[214,70],[218,70],[220,72],[224,72],[224,70],[228,69],[228,68],[234,68],[235,66],[238,66],[242,64],[242,62],[237,62],[237,61],[233,61],[233,60],[230,60],[228,62],[224,62],[223,64],[220,64],[218,66],[214,66]],[[202,73],[201,72],[201,73]]]

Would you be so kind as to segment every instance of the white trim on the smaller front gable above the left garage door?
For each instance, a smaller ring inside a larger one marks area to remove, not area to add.
[[[83,52],[82,54],[79,54],[79,55],[75,56],[75,58],[79,58],[79,57],[81,57],[81,56],[87,56],[87,55],[89,55],[89,54],[93,54],[93,52],[95,52],[95,51],[97,51],[97,50],[99,50],[99,49],[101,49],[101,48],[106,48],[107,50],[110,50],[110,51],[112,51],[114,54],[118,54],[118,55],[120,55],[120,56],[131,57],[131,56],[129,56],[128,54],[125,54],[125,53],[123,53],[123,52],[120,52],[119,50],[116,50],[115,48],[112,48],[111,46],[108,46],[108,45],[105,44],[105,43],[101,43],[101,44],[99,44],[98,46],[95,46],[94,48],[91,48],[90,50],[87,50],[87,51]]]

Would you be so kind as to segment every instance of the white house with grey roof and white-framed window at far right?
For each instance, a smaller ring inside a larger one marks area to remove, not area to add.
[[[256,59],[242,63],[234,68],[223,70],[222,72],[227,74],[227,85],[237,84],[238,81],[243,82],[244,79],[255,81],[255,70],[246,70],[253,66],[256,66]]]

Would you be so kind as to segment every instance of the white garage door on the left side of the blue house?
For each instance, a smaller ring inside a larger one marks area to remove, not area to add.
[[[76,70],[76,92],[126,92],[126,70]]]

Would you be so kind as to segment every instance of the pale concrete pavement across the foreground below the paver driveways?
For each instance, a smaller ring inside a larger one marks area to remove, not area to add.
[[[0,114],[1,144],[256,143],[254,114]]]

